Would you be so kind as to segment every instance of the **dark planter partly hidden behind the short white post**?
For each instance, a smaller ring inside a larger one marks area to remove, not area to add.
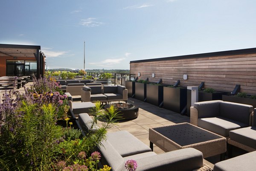
[[[211,101],[211,100],[222,100],[223,92],[206,93],[203,91],[198,92],[198,101]],[[187,91],[187,116],[190,116],[191,107],[191,90]]]

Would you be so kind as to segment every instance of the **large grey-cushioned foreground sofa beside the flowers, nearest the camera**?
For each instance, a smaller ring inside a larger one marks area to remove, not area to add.
[[[107,134],[107,140],[97,147],[102,154],[102,165],[109,165],[112,171],[125,171],[125,162],[134,159],[136,171],[210,171],[203,163],[203,154],[194,148],[186,148],[156,154],[128,131]]]

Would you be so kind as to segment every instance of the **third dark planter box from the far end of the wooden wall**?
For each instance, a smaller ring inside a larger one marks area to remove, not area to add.
[[[159,106],[163,102],[163,85],[146,84],[147,102]]]

